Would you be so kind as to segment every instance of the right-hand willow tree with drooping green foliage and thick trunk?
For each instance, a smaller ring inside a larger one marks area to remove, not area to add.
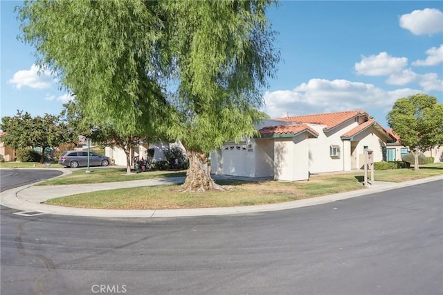
[[[272,1],[167,1],[164,44],[179,82],[177,137],[188,152],[184,190],[217,188],[208,154],[229,140],[254,134],[260,90],[278,54],[266,21]]]

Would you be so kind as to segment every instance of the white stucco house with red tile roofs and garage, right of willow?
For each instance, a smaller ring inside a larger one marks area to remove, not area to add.
[[[365,150],[383,160],[392,137],[365,111],[342,111],[262,120],[260,138],[228,142],[211,154],[217,175],[309,179],[321,172],[360,169]]]

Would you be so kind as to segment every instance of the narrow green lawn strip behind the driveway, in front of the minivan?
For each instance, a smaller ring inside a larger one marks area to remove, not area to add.
[[[66,168],[68,169],[68,168]],[[179,177],[185,176],[184,171],[147,171],[141,173],[126,174],[126,169],[121,168],[100,168],[92,169],[92,172],[86,173],[86,169],[75,170],[71,174],[57,177],[44,181],[38,186],[64,185],[64,184],[100,184],[104,182],[128,181],[128,180],[142,180],[159,177]]]

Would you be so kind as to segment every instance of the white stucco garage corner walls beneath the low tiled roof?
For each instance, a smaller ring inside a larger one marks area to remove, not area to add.
[[[309,141],[306,133],[274,138],[274,178],[280,181],[309,179]]]

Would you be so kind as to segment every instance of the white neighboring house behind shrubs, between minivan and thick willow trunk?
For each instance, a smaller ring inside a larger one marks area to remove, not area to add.
[[[186,154],[186,150],[181,144],[181,142],[177,141],[175,143],[141,143],[137,145],[132,150],[132,157],[139,157],[140,159],[149,159],[150,156],[148,154],[154,154],[152,157],[153,162],[159,161],[168,161],[169,159],[165,159],[164,150],[169,150],[174,145],[181,147],[183,153]],[[114,164],[126,166],[126,154],[122,148],[114,146],[105,147],[105,156],[114,159]]]

